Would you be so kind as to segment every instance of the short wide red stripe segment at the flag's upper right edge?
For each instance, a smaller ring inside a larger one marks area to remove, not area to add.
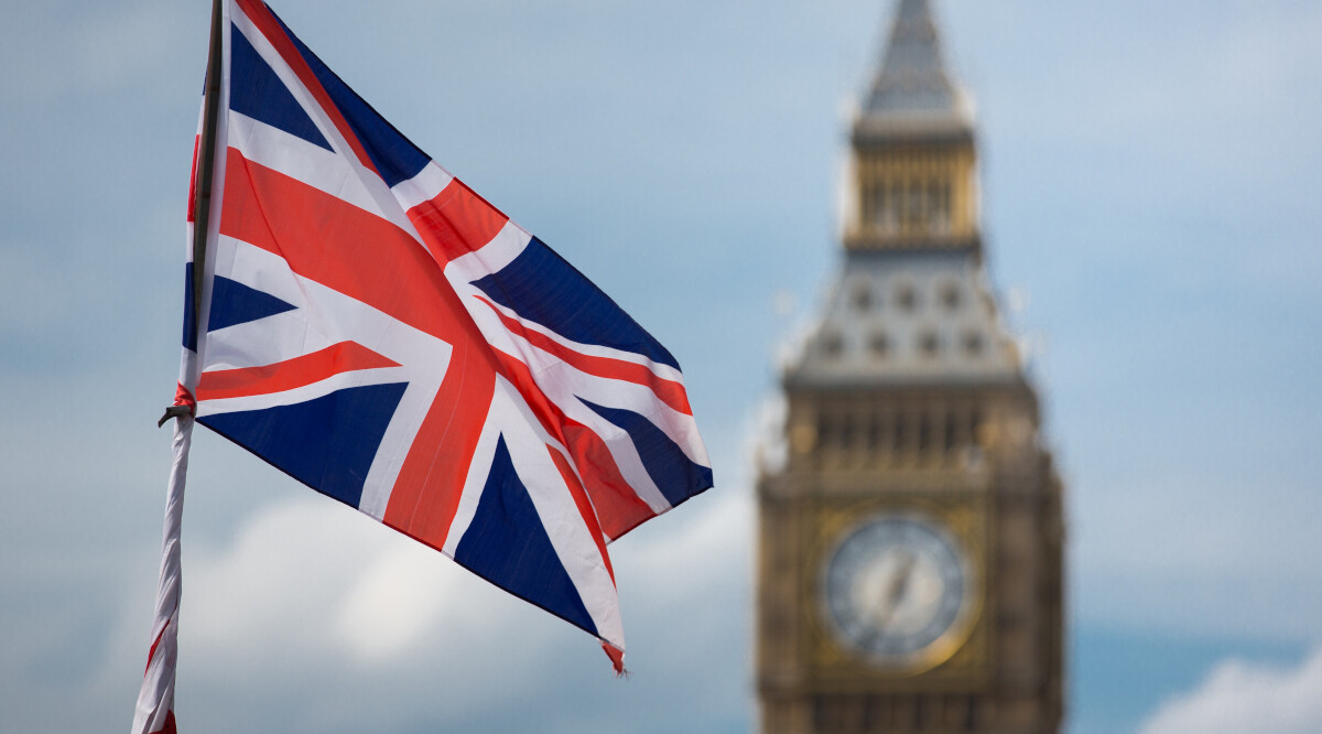
[[[477,196],[459,179],[435,198],[408,210],[408,220],[442,265],[480,250],[500,233],[509,217]]]

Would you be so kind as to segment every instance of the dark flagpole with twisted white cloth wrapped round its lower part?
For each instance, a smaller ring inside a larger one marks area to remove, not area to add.
[[[202,99],[202,127],[197,147],[197,168],[193,179],[193,294],[192,319],[194,335],[201,335],[202,287],[206,274],[206,238],[210,229],[212,177],[215,163],[215,128],[219,118],[221,78],[223,61],[222,0],[212,0],[212,30],[206,61],[206,91]],[[197,354],[184,347],[182,384],[175,405],[165,409],[157,422],[163,426],[175,418],[169,487],[165,493],[165,521],[161,532],[160,582],[156,587],[156,618],[152,623],[152,644],[147,655],[147,669],[137,693],[132,734],[176,734],[175,725],[175,668],[178,655],[178,603],[182,587],[180,530],[184,520],[184,485],[188,476],[188,455],[193,438],[193,389],[197,384]]]

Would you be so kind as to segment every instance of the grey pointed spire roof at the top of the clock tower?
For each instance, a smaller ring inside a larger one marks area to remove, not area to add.
[[[962,90],[945,67],[928,0],[900,0],[886,56],[861,110],[861,132],[895,127],[972,127]]]

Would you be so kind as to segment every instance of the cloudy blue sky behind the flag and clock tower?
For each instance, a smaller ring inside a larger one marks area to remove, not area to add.
[[[131,719],[208,5],[21,3],[0,26],[7,731]],[[181,725],[748,731],[748,446],[838,265],[845,111],[891,3],[373,5],[275,9],[676,353],[718,487],[612,549],[624,682],[582,632],[204,431]],[[1322,730],[1322,7],[940,11],[1069,488],[1069,731]]]

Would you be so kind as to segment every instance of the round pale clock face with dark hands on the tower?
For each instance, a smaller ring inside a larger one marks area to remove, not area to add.
[[[822,595],[839,639],[874,665],[935,665],[962,641],[974,589],[958,541],[917,513],[879,514],[845,536]]]

